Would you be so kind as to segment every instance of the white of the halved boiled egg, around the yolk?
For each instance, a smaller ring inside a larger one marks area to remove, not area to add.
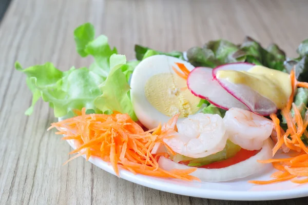
[[[140,62],[134,69],[130,80],[130,98],[139,121],[148,129],[155,128],[160,122],[165,123],[171,117],[154,108],[145,95],[145,85],[149,78],[160,73],[175,73],[172,66],[182,63],[191,71],[195,67],[187,61],[166,55],[153,55]],[[179,119],[181,120],[181,119]]]

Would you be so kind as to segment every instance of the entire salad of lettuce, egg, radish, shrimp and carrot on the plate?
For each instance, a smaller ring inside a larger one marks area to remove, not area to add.
[[[308,182],[308,39],[297,58],[246,37],[186,52],[136,45],[135,60],[95,37],[90,23],[74,30],[74,40],[81,57],[92,56],[88,68],[15,63],[33,94],[25,114],[40,98],[49,103],[59,118],[49,129],[74,142],[71,159],[99,157],[118,176],[125,169],[211,182],[270,163],[273,179],[249,182]]]

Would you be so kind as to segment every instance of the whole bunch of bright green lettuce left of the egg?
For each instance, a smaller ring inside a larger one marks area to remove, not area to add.
[[[126,62],[124,55],[111,49],[108,38],[94,38],[93,25],[86,23],[74,30],[76,51],[81,57],[91,55],[89,68],[61,71],[50,62],[23,69],[16,62],[16,70],[27,75],[26,83],[33,94],[32,104],[25,114],[30,115],[38,99],[42,98],[54,110],[55,117],[71,115],[74,109],[89,112],[128,113],[137,120],[129,98],[129,78],[139,61]]]

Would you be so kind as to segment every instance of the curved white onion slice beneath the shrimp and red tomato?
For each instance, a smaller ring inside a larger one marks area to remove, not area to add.
[[[264,171],[268,165],[264,163],[259,163],[257,160],[269,159],[272,157],[272,145],[269,139],[264,141],[262,150],[244,161],[236,163],[235,165],[220,168],[220,169],[205,169],[198,168],[195,172],[190,175],[198,177],[201,181],[218,182],[218,181],[229,181],[238,178],[244,178],[246,176],[255,174],[257,172]],[[188,169],[186,165],[181,165],[180,163],[174,162],[165,157],[160,157],[158,161],[160,168],[170,171],[172,169]]]

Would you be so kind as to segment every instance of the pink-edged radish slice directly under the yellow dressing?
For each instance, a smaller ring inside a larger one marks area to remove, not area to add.
[[[216,77],[219,70],[236,70],[236,71],[248,71],[254,66],[254,64],[248,63],[232,63],[218,66],[213,69],[213,77],[218,83],[231,95],[245,104],[249,110],[259,115],[270,115],[277,112],[277,106],[273,101],[263,97],[258,92],[243,84],[234,84],[227,79],[220,79]]]

